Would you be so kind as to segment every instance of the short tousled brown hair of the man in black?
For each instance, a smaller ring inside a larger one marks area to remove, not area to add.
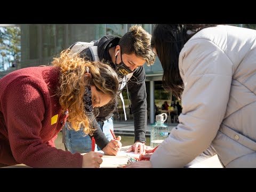
[[[120,39],[122,54],[135,53],[137,57],[146,60],[147,66],[153,65],[156,55],[151,48],[151,35],[141,26],[132,26]]]

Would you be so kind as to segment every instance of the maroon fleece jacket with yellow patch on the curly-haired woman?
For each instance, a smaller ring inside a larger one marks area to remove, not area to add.
[[[65,124],[55,91],[56,67],[29,67],[0,79],[0,163],[31,167],[82,167],[83,156],[55,148]]]

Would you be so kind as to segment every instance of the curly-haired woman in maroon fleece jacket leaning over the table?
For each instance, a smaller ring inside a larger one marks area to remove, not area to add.
[[[62,51],[52,66],[13,71],[0,80],[0,166],[99,167],[102,155],[57,149],[54,140],[66,121],[97,140],[90,116],[115,101],[118,77],[101,62]],[[121,143],[109,142],[114,147]],[[113,148],[114,148],[113,147]]]

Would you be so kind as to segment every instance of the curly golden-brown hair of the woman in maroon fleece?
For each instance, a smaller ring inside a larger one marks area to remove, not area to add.
[[[53,58],[52,65],[60,68],[60,86],[57,95],[62,110],[68,109],[68,121],[74,130],[84,128],[86,134],[92,134],[94,129],[84,111],[83,96],[86,85],[95,85],[98,91],[110,95],[115,101],[118,93],[118,77],[115,71],[98,61],[86,61],[77,55],[71,55],[70,50],[64,50],[58,58]],[[92,78],[84,76],[89,67]]]

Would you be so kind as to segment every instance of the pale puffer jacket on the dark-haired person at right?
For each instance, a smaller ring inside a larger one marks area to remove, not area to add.
[[[224,167],[256,167],[256,30],[205,28],[179,55],[179,125],[150,162],[183,167],[211,146]]]

